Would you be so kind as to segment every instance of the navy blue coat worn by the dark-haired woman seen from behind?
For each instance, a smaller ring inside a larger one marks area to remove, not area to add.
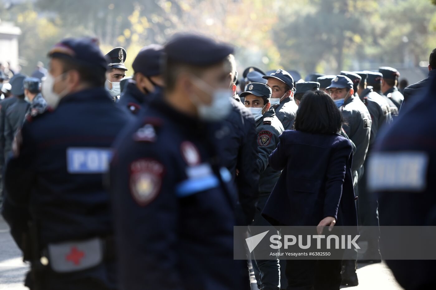
[[[283,170],[262,212],[272,225],[317,226],[327,216],[357,226],[351,142],[340,135],[286,130],[269,165]]]

